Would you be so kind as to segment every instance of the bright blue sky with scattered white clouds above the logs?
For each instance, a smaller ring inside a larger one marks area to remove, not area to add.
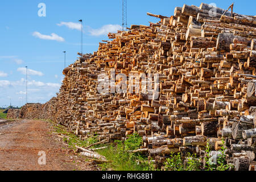
[[[203,1],[127,0],[127,24],[148,24],[158,19],[146,13],[171,16],[176,6],[196,5]],[[255,15],[255,1],[204,1],[234,11]],[[46,5],[46,16],[38,16],[39,3]],[[64,68],[77,59],[80,31],[76,23],[83,20],[84,53],[97,51],[107,31],[122,24],[122,1],[1,1],[0,6],[0,107],[21,106],[26,102],[24,67],[28,67],[28,102],[47,102],[59,92]],[[72,23],[71,23],[72,22]],[[50,40],[49,40],[50,39]]]

